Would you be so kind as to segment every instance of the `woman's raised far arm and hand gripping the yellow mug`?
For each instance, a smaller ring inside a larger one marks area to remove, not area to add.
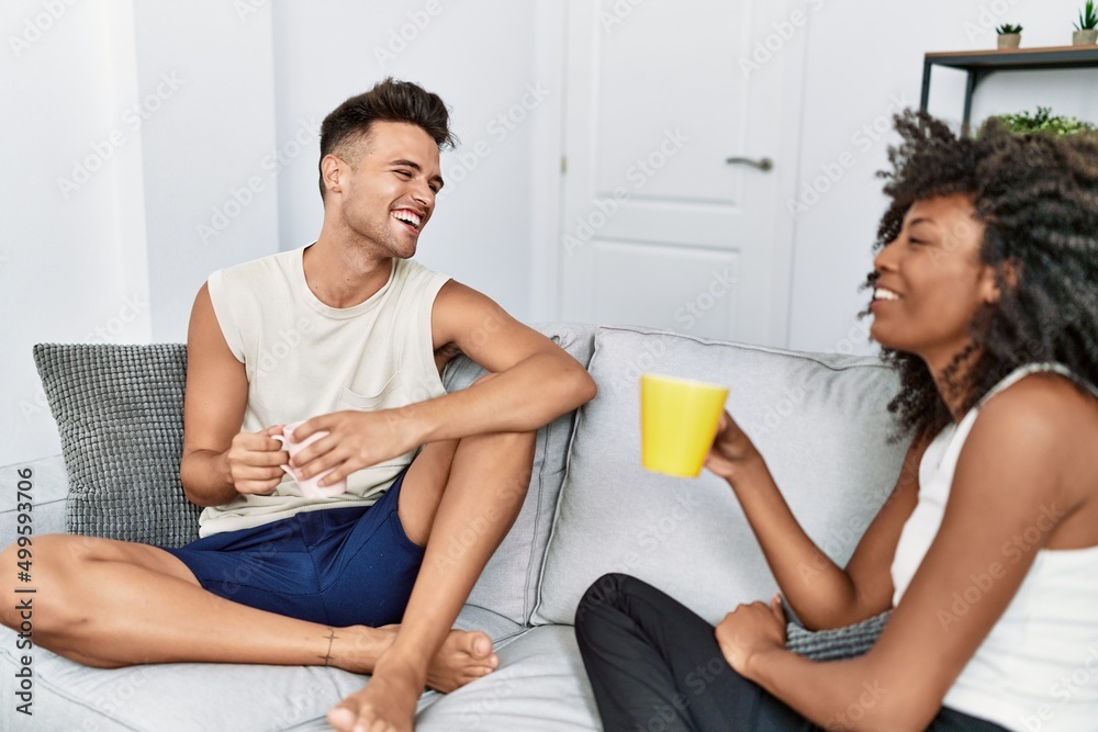
[[[808,538],[762,455],[727,414],[706,466],[728,481],[743,507],[786,601],[807,628],[839,628],[892,607],[889,567],[904,522],[915,509],[926,441],[908,448],[892,495],[839,567]]]

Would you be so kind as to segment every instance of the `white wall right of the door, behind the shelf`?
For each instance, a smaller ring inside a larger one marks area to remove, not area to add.
[[[817,4],[819,0],[813,0]],[[859,291],[872,268],[871,247],[885,209],[874,173],[895,138],[866,133],[884,124],[894,102],[918,106],[926,52],[994,48],[994,25],[1024,26],[1026,47],[1071,43],[1077,0],[829,0],[810,14],[798,193],[843,153],[855,165],[807,212],[796,215],[789,346],[806,350],[869,352],[867,320],[859,320],[869,293]],[[996,14],[993,10],[1006,10]],[[965,75],[937,69],[930,112],[960,123]],[[1051,105],[1061,114],[1098,121],[1098,69],[1000,72],[976,91],[972,119]],[[879,127],[878,127],[879,128]],[[890,129],[890,127],[889,127]],[[841,167],[841,166],[840,166]],[[822,183],[818,185],[826,189]],[[811,201],[811,199],[808,199]]]

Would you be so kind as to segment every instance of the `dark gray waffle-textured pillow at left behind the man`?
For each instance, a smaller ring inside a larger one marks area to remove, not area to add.
[[[179,547],[198,538],[198,506],[179,481],[187,348],[34,347],[69,474],[72,533]]]

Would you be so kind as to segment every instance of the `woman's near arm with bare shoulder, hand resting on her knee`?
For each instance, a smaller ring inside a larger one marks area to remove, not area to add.
[[[1013,598],[1037,551],[1084,502],[1077,488],[1065,485],[1098,480],[1078,474],[1067,433],[1078,425],[1061,418],[1063,410],[1047,393],[1042,396],[1043,388],[1019,384],[982,409],[957,462],[941,528],[866,655],[831,663],[797,657],[774,642],[778,621],[755,604],[718,627],[729,663],[829,729],[926,729]],[[1050,526],[1053,506],[1067,518]],[[1034,529],[1038,541],[1023,552],[1008,551],[1013,538],[1031,538]]]

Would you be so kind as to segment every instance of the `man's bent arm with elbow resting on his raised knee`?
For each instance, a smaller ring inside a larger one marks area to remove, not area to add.
[[[302,477],[335,469],[323,484],[439,440],[530,431],[591,401],[595,383],[551,340],[485,295],[458,282],[442,285],[432,311],[435,349],[453,345],[492,372],[452,394],[374,413],[337,412],[294,429],[299,440],[330,432],[292,461]]]

